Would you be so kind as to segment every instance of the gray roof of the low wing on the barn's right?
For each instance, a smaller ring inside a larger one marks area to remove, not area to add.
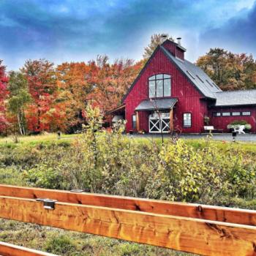
[[[256,90],[220,91],[215,95],[216,107],[256,105]]]

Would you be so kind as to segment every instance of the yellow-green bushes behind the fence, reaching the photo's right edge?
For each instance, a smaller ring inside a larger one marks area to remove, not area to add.
[[[222,154],[211,141],[195,151],[178,140],[162,147],[146,195],[189,202],[205,202],[220,195],[248,197],[255,187],[255,170],[255,163],[244,159],[241,151],[229,148]]]

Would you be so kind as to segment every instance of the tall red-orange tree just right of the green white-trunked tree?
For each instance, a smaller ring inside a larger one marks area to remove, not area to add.
[[[53,63],[45,59],[29,60],[20,71],[28,80],[32,98],[26,111],[28,127],[33,132],[49,130],[53,120],[50,109],[57,89]]]

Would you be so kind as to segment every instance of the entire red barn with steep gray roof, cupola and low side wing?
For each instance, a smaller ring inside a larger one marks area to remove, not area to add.
[[[256,132],[256,90],[222,91],[202,69],[184,58],[180,42],[165,40],[132,83],[113,121],[127,120],[127,132],[203,132],[245,120]]]

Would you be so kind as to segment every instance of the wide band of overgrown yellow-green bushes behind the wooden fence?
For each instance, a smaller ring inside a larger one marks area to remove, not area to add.
[[[72,146],[36,151],[37,163],[24,171],[29,184],[200,203],[256,196],[256,164],[241,148],[222,151],[211,138],[198,148],[181,139],[141,143],[122,134],[122,122],[100,131],[101,113],[90,108]]]

